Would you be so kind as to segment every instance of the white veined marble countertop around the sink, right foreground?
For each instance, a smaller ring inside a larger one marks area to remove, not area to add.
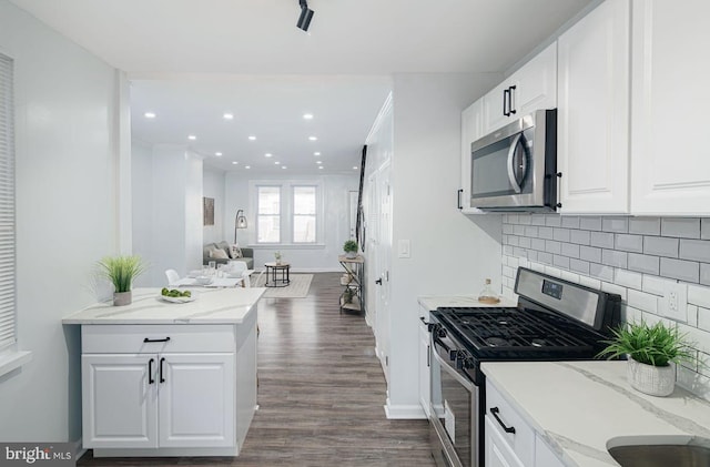
[[[501,362],[481,368],[568,466],[618,466],[607,451],[613,446],[710,443],[710,403],[678,386],[669,397],[639,393],[627,383],[626,365]]]

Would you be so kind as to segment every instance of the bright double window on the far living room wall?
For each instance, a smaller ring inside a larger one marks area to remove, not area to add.
[[[323,187],[320,181],[250,181],[256,213],[256,244],[323,247]]]

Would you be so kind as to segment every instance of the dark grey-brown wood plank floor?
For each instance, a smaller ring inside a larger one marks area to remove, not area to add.
[[[434,466],[425,420],[385,418],[373,332],[338,312],[339,274],[315,274],[306,298],[263,298],[258,404],[239,457],[94,459],[80,466]]]

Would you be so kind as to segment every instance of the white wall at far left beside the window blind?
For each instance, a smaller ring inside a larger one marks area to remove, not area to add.
[[[0,53],[14,59],[19,348],[0,377],[0,439],[81,436],[79,329],[95,262],[118,250],[115,70],[0,1]]]

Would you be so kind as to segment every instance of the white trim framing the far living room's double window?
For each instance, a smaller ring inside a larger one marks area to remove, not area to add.
[[[256,190],[258,186],[281,186],[281,242],[260,243],[256,241],[256,219],[258,212],[258,199]],[[315,243],[293,243],[293,187],[315,186],[316,189],[316,234]],[[248,182],[248,222],[254,225],[250,229],[250,247],[273,247],[278,246],[284,250],[307,250],[323,248],[325,246],[325,201],[323,199],[323,182],[321,180],[250,180]],[[253,214],[252,214],[253,213]]]

